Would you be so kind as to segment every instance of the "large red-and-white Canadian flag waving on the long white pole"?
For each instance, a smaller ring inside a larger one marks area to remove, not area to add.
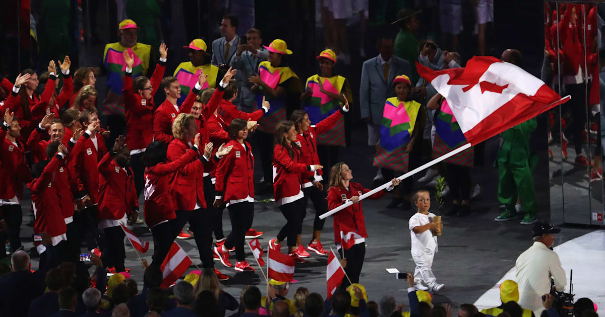
[[[571,97],[561,98],[540,79],[491,56],[474,56],[465,68],[418,73],[450,104],[466,140],[475,145]]]

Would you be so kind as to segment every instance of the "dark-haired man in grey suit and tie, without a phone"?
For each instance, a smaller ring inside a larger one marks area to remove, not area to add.
[[[240,21],[235,16],[227,14],[223,17],[223,21],[221,21],[221,35],[223,37],[212,41],[212,65],[226,65],[227,68],[231,65],[231,60],[237,51],[237,45],[240,43],[240,37],[237,36],[238,25],[240,25]],[[226,71],[226,68],[223,68],[223,71]],[[238,72],[234,78],[238,82],[238,88],[241,89],[241,74]],[[233,103],[239,104],[240,97],[236,97]]]

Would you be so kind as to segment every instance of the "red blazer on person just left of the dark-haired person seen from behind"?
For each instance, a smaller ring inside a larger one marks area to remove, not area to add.
[[[99,162],[99,211],[98,219],[119,220],[124,214],[139,210],[139,197],[134,189],[134,176],[130,167],[124,170],[113,160],[110,153]]]

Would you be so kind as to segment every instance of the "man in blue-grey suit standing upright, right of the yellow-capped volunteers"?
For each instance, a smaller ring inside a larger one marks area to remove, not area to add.
[[[411,75],[410,63],[393,56],[393,39],[378,39],[378,56],[368,59],[361,68],[359,104],[361,118],[368,123],[368,145],[375,146],[380,139],[382,110],[387,98],[394,97],[393,79],[398,75]]]

